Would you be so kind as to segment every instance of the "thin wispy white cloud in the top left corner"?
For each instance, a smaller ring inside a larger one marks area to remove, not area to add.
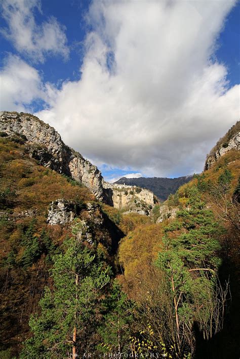
[[[67,59],[65,28],[54,17],[37,25],[34,11],[41,13],[40,0],[3,0],[2,16],[8,28],[2,28],[2,34],[13,42],[17,51],[36,62],[44,62],[46,55]]]

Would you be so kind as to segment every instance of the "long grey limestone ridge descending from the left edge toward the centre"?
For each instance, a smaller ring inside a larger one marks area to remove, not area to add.
[[[53,127],[31,114],[4,111],[0,113],[0,131],[24,136],[31,157],[46,167],[72,176],[98,199],[103,199],[101,172],[81,154],[66,146]]]

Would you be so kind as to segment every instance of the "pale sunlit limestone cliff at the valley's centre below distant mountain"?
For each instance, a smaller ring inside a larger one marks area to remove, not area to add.
[[[103,187],[108,192],[108,198],[112,200],[113,207],[125,209],[125,213],[148,215],[154,205],[153,193],[149,190],[106,182],[103,183]]]

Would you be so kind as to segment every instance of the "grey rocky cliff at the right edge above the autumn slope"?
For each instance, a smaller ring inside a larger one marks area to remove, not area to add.
[[[211,150],[205,162],[205,170],[210,169],[214,163],[230,150],[240,150],[240,121],[237,121]]]

